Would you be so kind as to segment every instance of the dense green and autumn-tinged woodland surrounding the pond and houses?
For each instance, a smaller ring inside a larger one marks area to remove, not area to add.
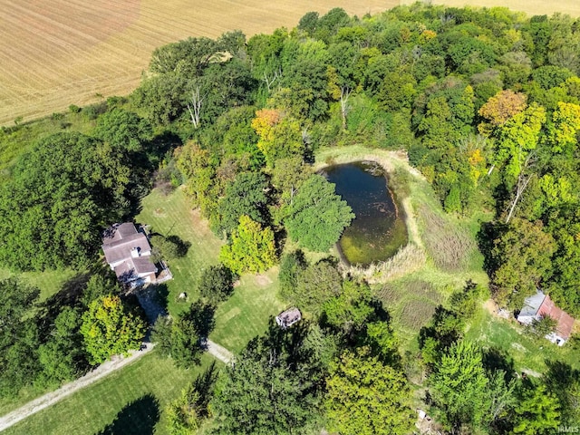
[[[485,285],[449,292],[417,331],[425,376],[413,384],[372,287],[304,251],[327,253],[354,218],[312,169],[315,153],[405,150],[447,213],[488,217],[478,247],[500,307],[517,310],[541,288],[580,317],[579,73],[580,20],[506,8],[333,9],[305,14],[291,31],[160,47],[130,96],[82,109],[94,127],[74,132],[54,114],[63,131],[3,168],[0,263],[90,272],[81,294],[42,304],[16,278],[0,283],[0,393],[73,379],[134,348],[144,320],[94,266],[100,234],[133,218],[153,187],[182,187],[227,244],[202,276],[203,301],[155,324],[160,351],[196,364],[211,307],[237,275],[274,265],[281,296],[308,315],[285,331],[272,324],[218,381],[192,384],[170,405],[171,433],[207,419],[222,434],[411,433],[420,388],[450,433],[577,423],[575,369],[551,362],[541,378],[516,377],[502,355],[463,339]],[[5,128],[2,143],[19,143],[23,129]],[[36,315],[24,315],[33,304]],[[100,342],[115,323],[131,328]]]

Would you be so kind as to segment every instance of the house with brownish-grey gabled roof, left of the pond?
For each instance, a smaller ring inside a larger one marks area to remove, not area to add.
[[[151,261],[149,239],[133,223],[107,228],[102,233],[102,251],[122,284],[136,287],[155,283],[157,267]]]

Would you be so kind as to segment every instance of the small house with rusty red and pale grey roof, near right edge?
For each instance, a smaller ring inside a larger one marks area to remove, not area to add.
[[[540,320],[546,316],[556,320],[556,331],[547,334],[546,338],[558,346],[563,345],[570,338],[572,327],[574,326],[574,318],[558,308],[549,295],[544,295],[538,290],[536,295],[528,297],[524,301],[522,311],[517,315],[517,322],[531,324],[534,320]]]

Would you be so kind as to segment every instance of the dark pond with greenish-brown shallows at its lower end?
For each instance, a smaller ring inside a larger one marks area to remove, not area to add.
[[[336,193],[353,208],[356,218],[338,242],[352,265],[368,266],[386,260],[407,243],[407,227],[382,167],[374,161],[357,161],[324,168]]]

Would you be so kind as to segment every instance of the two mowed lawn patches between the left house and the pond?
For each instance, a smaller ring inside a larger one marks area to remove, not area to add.
[[[208,227],[208,222],[192,210],[189,199],[181,189],[169,196],[153,190],[143,198],[138,222],[150,226],[153,232],[164,236],[178,236],[190,244],[187,256],[169,262],[174,279],[164,283],[170,314],[185,311],[198,298],[198,280],[208,266],[218,265],[219,249],[224,242]],[[273,267],[264,274],[242,275],[234,294],[218,306],[216,327],[209,338],[232,352],[241,351],[257,334],[266,331],[269,318],[278,314],[285,305],[278,299],[278,269]],[[186,293],[185,302],[179,294]]]

